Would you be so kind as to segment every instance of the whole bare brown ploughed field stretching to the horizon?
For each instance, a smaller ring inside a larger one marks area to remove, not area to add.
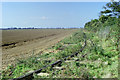
[[[42,53],[48,47],[70,36],[77,29],[25,29],[2,31],[2,67],[21,58]]]

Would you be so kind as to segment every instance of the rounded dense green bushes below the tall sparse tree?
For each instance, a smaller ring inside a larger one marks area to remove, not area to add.
[[[111,27],[116,26],[119,28],[118,20],[119,18],[116,18],[116,17],[107,17],[107,16],[102,15],[100,16],[99,19],[95,19],[95,20],[91,20],[90,22],[87,22],[84,28],[89,31],[94,31],[94,32],[100,30],[101,28],[108,27],[108,26],[111,26]]]

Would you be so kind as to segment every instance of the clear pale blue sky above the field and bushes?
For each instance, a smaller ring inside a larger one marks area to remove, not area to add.
[[[84,27],[97,19],[105,2],[3,2],[2,28]]]

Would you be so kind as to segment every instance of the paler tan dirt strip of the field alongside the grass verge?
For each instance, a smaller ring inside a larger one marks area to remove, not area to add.
[[[3,49],[2,51],[2,67],[3,69],[9,64],[14,64],[17,59],[27,58],[33,54],[42,53],[46,48],[54,45],[58,41],[70,36],[76,30],[69,30],[64,33],[55,34],[53,36],[46,36],[32,41],[24,42],[23,45],[13,48]]]

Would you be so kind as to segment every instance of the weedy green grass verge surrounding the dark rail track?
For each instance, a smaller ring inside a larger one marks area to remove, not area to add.
[[[118,77],[118,55],[117,37],[115,31],[107,34],[107,37],[100,36],[87,30],[79,30],[72,36],[65,38],[49,49],[58,50],[57,53],[43,53],[39,56],[32,56],[25,60],[20,60],[15,66],[8,66],[2,73],[2,78],[16,78],[28,71],[37,70],[56,60],[71,55],[82,48],[84,43],[83,32],[87,35],[87,46],[76,58],[79,61],[71,63],[63,62],[61,66],[64,70],[53,70],[51,67],[42,72],[49,73],[48,77],[40,77],[34,74],[35,78],[117,78]],[[81,55],[86,54],[84,58]],[[38,60],[40,59],[40,60]],[[69,58],[73,60],[73,58]],[[10,73],[12,74],[10,75]],[[109,74],[109,75],[107,75]]]

